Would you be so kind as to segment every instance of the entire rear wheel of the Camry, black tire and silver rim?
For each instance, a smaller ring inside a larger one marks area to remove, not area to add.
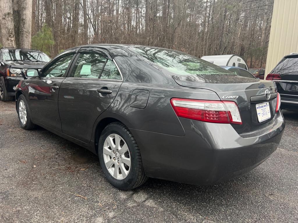
[[[122,190],[134,189],[148,179],[139,147],[129,129],[119,122],[105,127],[98,144],[100,165],[105,177]]]

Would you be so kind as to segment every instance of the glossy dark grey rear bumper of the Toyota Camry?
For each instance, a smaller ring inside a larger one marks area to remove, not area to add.
[[[185,136],[131,129],[148,177],[197,185],[229,180],[265,161],[285,127],[281,112],[270,126],[240,135],[230,124],[179,120]]]

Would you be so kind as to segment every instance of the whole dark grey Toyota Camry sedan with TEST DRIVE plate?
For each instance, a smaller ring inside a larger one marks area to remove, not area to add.
[[[179,51],[85,45],[16,89],[21,128],[40,125],[100,159],[108,181],[210,185],[261,164],[282,137],[272,81],[237,76]]]

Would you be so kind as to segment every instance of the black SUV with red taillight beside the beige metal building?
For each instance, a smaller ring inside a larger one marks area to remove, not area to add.
[[[298,54],[283,57],[266,80],[276,83],[281,109],[298,111]]]

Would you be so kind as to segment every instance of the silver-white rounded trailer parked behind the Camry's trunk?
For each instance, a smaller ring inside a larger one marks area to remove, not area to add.
[[[218,66],[241,67],[243,69],[248,70],[246,61],[237,54],[202,56],[201,59],[206,60]]]

